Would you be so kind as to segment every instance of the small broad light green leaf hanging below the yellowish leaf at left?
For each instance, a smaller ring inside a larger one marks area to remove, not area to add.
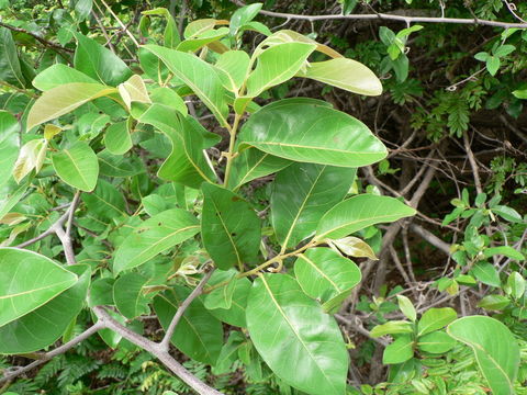
[[[54,154],[52,161],[57,176],[68,185],[85,192],[96,188],[99,161],[88,143],[75,143],[70,148]]]

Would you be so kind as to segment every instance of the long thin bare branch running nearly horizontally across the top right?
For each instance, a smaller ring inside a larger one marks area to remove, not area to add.
[[[237,5],[245,5],[242,1],[232,0]],[[407,25],[411,23],[453,23],[453,24],[470,24],[470,25],[486,25],[486,26],[495,26],[495,27],[518,27],[518,29],[526,29],[527,23],[508,23],[508,22],[500,22],[500,21],[489,21],[489,20],[481,20],[479,18],[434,18],[434,16],[404,16],[404,15],[395,15],[389,13],[373,13],[373,14],[349,14],[349,15],[301,15],[301,14],[292,14],[292,13],[283,13],[283,12],[273,12],[273,11],[266,11],[260,10],[259,13],[267,16],[273,18],[283,18],[288,20],[303,20],[303,21],[326,21],[326,20],[386,20],[386,21],[399,21],[404,22]]]

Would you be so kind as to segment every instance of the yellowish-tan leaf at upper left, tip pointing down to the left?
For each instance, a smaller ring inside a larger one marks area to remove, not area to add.
[[[100,83],[72,82],[45,91],[33,104],[27,115],[27,131],[67,114],[93,99],[116,92]]]

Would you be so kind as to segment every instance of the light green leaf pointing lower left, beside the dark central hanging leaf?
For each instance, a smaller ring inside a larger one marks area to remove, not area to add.
[[[164,211],[135,228],[119,246],[114,272],[135,268],[200,232],[198,219],[181,208]]]

